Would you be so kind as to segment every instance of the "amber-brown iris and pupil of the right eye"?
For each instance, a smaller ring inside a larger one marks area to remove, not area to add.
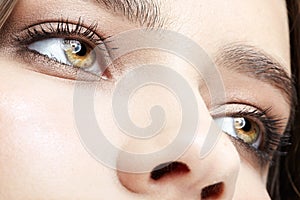
[[[260,132],[258,125],[246,118],[235,118],[234,129],[237,136],[248,144],[255,143]]]

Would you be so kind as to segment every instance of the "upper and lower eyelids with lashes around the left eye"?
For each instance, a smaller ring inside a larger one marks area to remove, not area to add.
[[[66,65],[65,63],[59,63],[38,51],[30,50],[28,47],[34,42],[40,42],[50,38],[78,40],[97,51],[97,55],[99,54],[98,56],[101,58],[101,60],[99,60],[99,64],[101,63],[101,66],[103,65],[107,67],[112,65],[110,59],[106,58],[110,57],[109,51],[103,42],[104,38],[96,34],[96,29],[97,24],[93,23],[90,26],[85,26],[81,18],[79,18],[77,24],[62,19],[61,21],[43,22],[30,25],[21,31],[21,33],[15,34],[15,40],[18,42],[18,46],[20,46],[20,57],[24,57],[26,62],[30,63],[31,66],[35,66],[29,67],[31,70],[70,80],[88,82],[99,81],[102,77],[99,76],[99,74],[84,72],[84,70],[76,69],[75,67]],[[21,56],[21,54],[23,54],[23,56]],[[24,54],[27,56],[24,56]],[[26,59],[28,57],[31,59]],[[103,60],[102,58],[104,57],[105,59]],[[34,60],[40,61],[40,67],[36,66],[36,63],[33,62]],[[80,75],[80,77],[78,77],[78,75]],[[108,75],[110,77],[111,73],[108,72]]]

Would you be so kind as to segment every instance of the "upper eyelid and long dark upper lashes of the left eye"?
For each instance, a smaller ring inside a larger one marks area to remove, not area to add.
[[[29,50],[28,46],[34,42],[41,41],[43,39],[56,37],[67,40],[78,40],[87,44],[92,49],[97,48],[99,52],[101,51],[103,53],[101,54],[102,56],[108,57],[108,59],[110,59],[109,50],[113,50],[113,48],[109,48],[104,42],[104,40],[110,38],[111,36],[103,37],[97,34],[97,28],[98,24],[95,22],[87,26],[84,23],[82,17],[79,17],[78,21],[75,23],[70,22],[68,19],[61,18],[60,20],[45,21],[42,23],[31,24],[30,26],[23,28],[19,33],[13,34],[12,37],[14,39],[14,42],[16,42],[16,45],[20,47],[18,52],[31,52],[33,54],[43,56],[44,58],[47,58],[49,60],[52,60],[52,58],[41,55],[39,52]],[[55,62],[57,62],[59,65],[66,65],[65,63],[62,63],[58,60],[55,60]],[[54,76],[63,77],[59,76],[58,74],[55,74]],[[78,77],[75,78],[77,79]],[[93,76],[92,81],[98,80],[94,78],[95,77]],[[99,78],[99,76],[97,76],[97,78]],[[67,79],[73,79],[73,77]]]

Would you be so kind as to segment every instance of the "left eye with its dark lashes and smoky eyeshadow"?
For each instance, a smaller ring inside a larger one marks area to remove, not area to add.
[[[97,27],[85,25],[81,17],[77,22],[60,19],[30,25],[13,38],[20,46],[19,57],[35,66],[34,71],[70,80],[109,81],[107,38],[96,33]]]

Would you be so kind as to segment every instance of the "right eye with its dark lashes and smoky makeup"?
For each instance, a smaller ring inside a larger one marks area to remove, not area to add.
[[[290,136],[285,130],[285,119],[270,114],[271,107],[261,109],[242,103],[225,106],[229,108],[226,113],[215,112],[213,118],[237,149],[242,149],[244,157],[250,154],[250,158],[255,158],[252,162],[264,168],[272,164],[273,156],[284,153],[279,149],[289,145]]]

